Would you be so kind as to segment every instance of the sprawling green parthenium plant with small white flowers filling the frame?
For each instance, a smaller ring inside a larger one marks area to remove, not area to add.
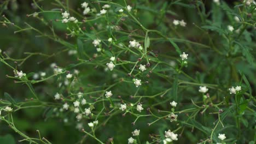
[[[4,93],[0,101],[1,125],[8,124],[23,137],[19,141],[256,141],[253,1],[228,5],[216,0],[55,0],[49,6],[34,0],[35,12],[27,14],[27,19],[40,26],[13,22],[8,5],[14,3],[2,3],[3,27],[15,34],[36,32],[37,39],[47,38],[60,47],[50,47],[47,53],[24,50],[25,58],[16,58],[8,47],[1,47],[1,69],[13,70],[6,77],[26,86],[27,90],[19,91],[30,91],[12,97]],[[183,7],[196,18],[183,20],[183,11],[178,10]],[[66,61],[52,60],[58,56]],[[50,67],[22,69],[33,57],[42,61],[32,63],[40,66],[47,60]],[[16,113],[38,108],[45,110],[41,114],[45,123],[71,127],[66,133],[78,135],[76,139],[48,139],[47,133],[40,134],[32,125],[30,135],[19,130],[20,119],[13,118]]]

